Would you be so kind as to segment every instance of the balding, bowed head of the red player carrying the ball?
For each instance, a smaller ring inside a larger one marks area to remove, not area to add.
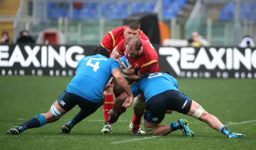
[[[143,52],[141,40],[137,36],[127,38],[125,46],[127,55],[130,59],[138,58]]]

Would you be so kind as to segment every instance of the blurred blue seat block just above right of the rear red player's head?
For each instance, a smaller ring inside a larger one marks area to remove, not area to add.
[[[132,13],[153,12],[156,2],[133,2]]]

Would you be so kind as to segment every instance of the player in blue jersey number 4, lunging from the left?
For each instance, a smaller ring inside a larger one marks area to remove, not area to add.
[[[112,80],[110,80],[112,76],[116,84],[128,94],[128,99],[133,99],[130,87],[120,71],[118,61],[109,58],[106,48],[98,47],[93,52],[93,56],[86,56],[78,62],[76,75],[47,113],[38,114],[24,124],[14,126],[7,134],[20,134],[26,129],[38,128],[55,122],[78,105],[81,110],[73,119],[72,126],[74,126],[104,104],[103,91],[112,84]],[[62,130],[67,129],[62,128]]]

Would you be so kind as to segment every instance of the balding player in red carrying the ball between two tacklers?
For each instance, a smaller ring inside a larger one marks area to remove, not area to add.
[[[158,55],[156,50],[152,44],[136,36],[122,40],[112,51],[110,58],[118,59],[122,56],[126,56],[132,63],[132,66],[129,66],[123,72],[128,81],[136,82],[140,78],[148,76],[149,74],[159,72]],[[114,84],[113,91],[116,97],[127,96],[117,84]],[[118,118],[126,109],[122,107],[122,103],[120,102],[115,102],[114,106],[112,113],[119,111],[117,116]],[[144,108],[144,106],[144,96],[139,94],[138,97],[134,99],[134,114],[136,116],[136,120],[132,120],[131,122],[133,125],[130,126],[132,133],[141,133],[141,118],[144,115],[144,109],[141,111],[141,108]],[[122,108],[122,112],[120,112],[119,108]]]

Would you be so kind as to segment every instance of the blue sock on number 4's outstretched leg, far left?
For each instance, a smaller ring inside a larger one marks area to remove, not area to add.
[[[31,128],[38,128],[40,126],[44,126],[46,124],[46,118],[42,114],[38,114],[34,118],[28,120],[24,124],[19,125],[20,128],[22,128],[22,131],[26,129],[31,129]]]

